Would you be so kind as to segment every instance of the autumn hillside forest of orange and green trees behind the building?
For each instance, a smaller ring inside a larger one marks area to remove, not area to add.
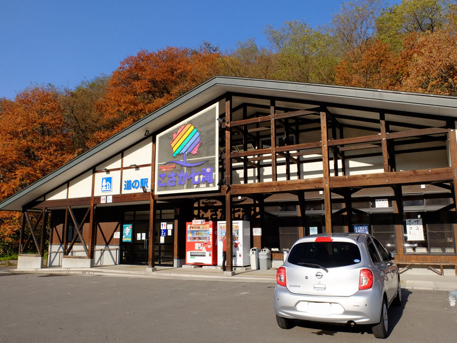
[[[457,96],[457,0],[343,2],[311,27],[286,21],[221,51],[167,46],[127,56],[73,89],[32,85],[0,98],[0,201],[215,76]],[[20,212],[0,211],[0,256],[17,254]]]

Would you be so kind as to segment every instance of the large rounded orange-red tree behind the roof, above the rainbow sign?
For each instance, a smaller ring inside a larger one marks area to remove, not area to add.
[[[113,73],[103,104],[100,141],[183,95],[217,74],[217,52],[167,47],[121,61]]]

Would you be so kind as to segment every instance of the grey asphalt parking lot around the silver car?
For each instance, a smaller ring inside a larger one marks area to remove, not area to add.
[[[1,342],[379,341],[366,327],[277,327],[274,284],[0,272]],[[454,342],[455,292],[403,289],[389,341]]]

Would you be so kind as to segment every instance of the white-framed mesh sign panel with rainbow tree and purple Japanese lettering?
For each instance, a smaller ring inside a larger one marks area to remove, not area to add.
[[[155,194],[218,190],[218,104],[157,135]]]

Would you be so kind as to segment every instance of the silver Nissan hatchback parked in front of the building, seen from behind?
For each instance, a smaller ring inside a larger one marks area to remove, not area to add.
[[[388,335],[387,309],[400,305],[398,267],[369,234],[311,235],[296,241],[276,273],[274,309],[278,326],[293,319],[370,325]]]

